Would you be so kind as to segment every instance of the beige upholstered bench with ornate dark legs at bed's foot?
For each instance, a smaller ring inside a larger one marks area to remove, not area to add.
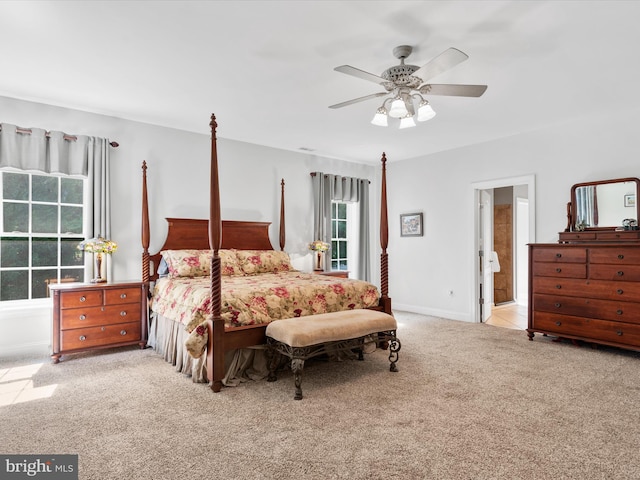
[[[302,370],[305,360],[328,352],[357,351],[363,360],[363,347],[367,337],[371,342],[388,342],[389,369],[397,372],[396,362],[400,341],[396,338],[396,319],[376,310],[346,310],[322,313],[306,317],[276,320],[267,325],[267,355],[269,357],[268,381],[277,380],[276,353],[291,359],[295,381],[296,400],[302,400]]]

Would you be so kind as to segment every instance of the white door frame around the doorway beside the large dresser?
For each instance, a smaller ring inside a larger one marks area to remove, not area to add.
[[[471,252],[471,318],[474,323],[480,323],[481,309],[480,301],[480,268],[478,265],[478,259],[480,258],[478,252],[480,250],[480,191],[481,190],[493,190],[500,187],[511,187],[516,185],[527,186],[527,198],[529,199],[529,243],[535,243],[536,241],[536,178],[535,175],[522,175],[518,177],[499,178],[495,180],[485,180],[482,182],[473,182],[471,184],[473,194],[473,251]]]

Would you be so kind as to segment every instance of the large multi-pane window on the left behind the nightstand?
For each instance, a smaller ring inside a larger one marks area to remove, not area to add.
[[[84,279],[85,180],[0,171],[0,302]]]

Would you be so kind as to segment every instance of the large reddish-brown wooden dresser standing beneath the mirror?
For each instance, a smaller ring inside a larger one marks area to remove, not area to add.
[[[637,232],[568,233],[566,243],[529,245],[529,340],[539,332],[640,350]]]

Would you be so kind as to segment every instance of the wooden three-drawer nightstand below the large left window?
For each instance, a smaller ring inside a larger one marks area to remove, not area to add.
[[[53,298],[52,361],[64,354],[140,345],[147,340],[144,282],[66,283],[49,286]]]

